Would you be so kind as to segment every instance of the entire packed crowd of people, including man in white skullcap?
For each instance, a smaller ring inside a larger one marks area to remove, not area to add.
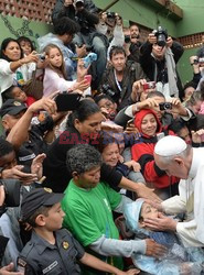
[[[204,273],[204,46],[92,0],[0,46],[0,274]]]

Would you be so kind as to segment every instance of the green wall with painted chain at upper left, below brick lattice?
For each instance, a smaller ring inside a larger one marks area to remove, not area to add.
[[[36,45],[36,38],[52,31],[45,23],[0,15],[0,42],[7,37],[28,36]]]

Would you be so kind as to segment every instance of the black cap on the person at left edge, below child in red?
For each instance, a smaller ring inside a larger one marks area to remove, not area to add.
[[[8,99],[0,109],[0,116],[1,118],[6,114],[15,116],[26,109],[28,108],[25,103],[15,99]]]

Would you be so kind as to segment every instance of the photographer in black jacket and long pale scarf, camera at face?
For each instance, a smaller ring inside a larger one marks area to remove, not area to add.
[[[183,54],[183,46],[168,36],[161,26],[149,34],[140,47],[140,64],[157,90],[168,97],[181,97],[182,84],[175,64]]]

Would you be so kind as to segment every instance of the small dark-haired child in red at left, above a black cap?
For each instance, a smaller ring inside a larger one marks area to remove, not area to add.
[[[34,103],[36,100],[33,97],[26,96],[26,94],[18,86],[11,86],[2,94],[3,102],[8,99],[17,99],[24,102],[28,107]]]

